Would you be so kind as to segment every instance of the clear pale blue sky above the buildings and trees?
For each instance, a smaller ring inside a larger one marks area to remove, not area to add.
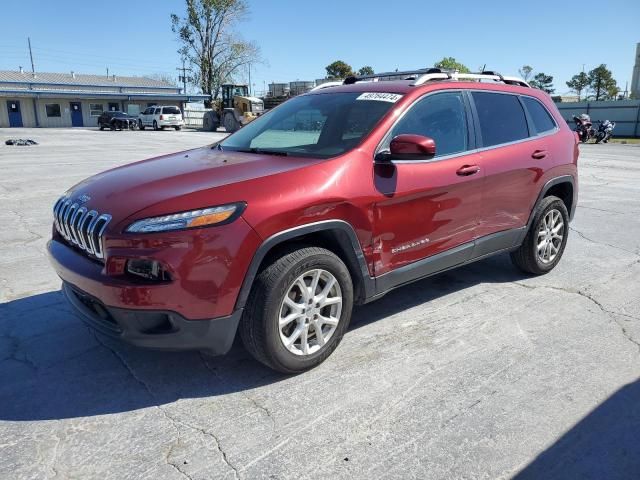
[[[455,57],[517,75],[522,65],[554,77],[567,94],[572,75],[607,64],[624,90],[640,42],[640,1],[248,0],[238,25],[263,61],[252,65],[254,92],[266,84],[315,80],[340,59],[376,72],[432,66]],[[170,14],[184,0],[2,0],[0,70],[177,77],[179,44]],[[248,80],[245,70],[238,80]]]

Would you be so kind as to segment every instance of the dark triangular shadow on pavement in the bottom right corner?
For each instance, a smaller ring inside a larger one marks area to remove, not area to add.
[[[640,380],[625,385],[514,477],[640,478]]]

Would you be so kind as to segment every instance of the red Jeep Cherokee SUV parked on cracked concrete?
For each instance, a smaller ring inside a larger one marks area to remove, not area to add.
[[[577,159],[549,96],[522,80],[350,78],[213,146],[79,183],[48,248],[105,334],[224,354],[239,330],[256,359],[300,372],[337,347],[354,304],[501,252],[553,269]]]

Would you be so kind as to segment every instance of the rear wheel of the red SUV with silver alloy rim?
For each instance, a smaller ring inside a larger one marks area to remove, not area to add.
[[[569,213],[562,200],[550,195],[542,199],[534,215],[522,245],[511,252],[511,261],[523,272],[544,275],[553,270],[562,258],[569,236]],[[562,221],[562,227],[559,227],[558,220]],[[551,228],[547,228],[545,222]],[[554,231],[561,238],[554,236]],[[542,249],[538,249],[538,245],[543,243]]]

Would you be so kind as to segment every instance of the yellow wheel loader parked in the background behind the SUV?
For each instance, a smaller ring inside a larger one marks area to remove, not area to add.
[[[206,112],[202,119],[205,130],[216,131],[223,126],[232,133],[264,113],[264,102],[250,96],[247,85],[225,84],[221,89],[222,100],[217,108]]]

